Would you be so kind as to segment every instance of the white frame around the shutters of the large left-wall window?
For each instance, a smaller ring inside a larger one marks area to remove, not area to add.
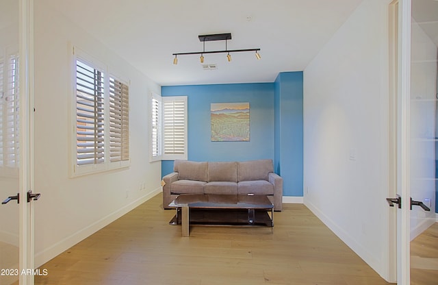
[[[77,90],[76,90],[76,77],[77,77],[77,60],[88,64],[88,66],[93,69],[99,69],[104,73],[104,161],[97,164],[77,164]],[[125,160],[118,160],[111,162],[110,157],[110,77],[126,84],[129,88],[129,80],[120,79],[118,76],[114,76],[114,73],[109,70],[106,64],[103,64],[96,58],[92,57],[88,53],[82,51],[78,47],[73,47],[73,57],[72,57],[72,90],[73,95],[71,96],[71,108],[70,108],[70,121],[71,121],[71,138],[70,138],[70,176],[78,177],[82,175],[89,175],[93,173],[100,173],[103,171],[112,171],[114,169],[123,169],[129,167],[131,164],[131,159],[127,158]],[[129,97],[129,95],[128,95]],[[130,132],[128,129],[128,136]],[[128,142],[130,142],[128,138]],[[130,143],[128,143],[129,152],[131,149]]]

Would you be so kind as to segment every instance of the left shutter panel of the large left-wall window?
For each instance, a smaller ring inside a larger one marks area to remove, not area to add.
[[[77,165],[105,162],[104,74],[76,60]]]

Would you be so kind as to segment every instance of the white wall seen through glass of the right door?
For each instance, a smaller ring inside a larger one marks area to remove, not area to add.
[[[437,46],[421,25],[411,25],[411,197],[430,199],[430,212],[411,211],[411,239],[435,223]]]

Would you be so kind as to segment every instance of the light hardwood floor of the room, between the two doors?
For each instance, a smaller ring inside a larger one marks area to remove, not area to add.
[[[35,284],[389,284],[302,204],[269,227],[168,225],[162,195],[42,265]]]

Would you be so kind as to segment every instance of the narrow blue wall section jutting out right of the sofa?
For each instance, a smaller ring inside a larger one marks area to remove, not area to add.
[[[302,72],[280,73],[274,82],[275,171],[283,177],[283,195],[302,197]]]

